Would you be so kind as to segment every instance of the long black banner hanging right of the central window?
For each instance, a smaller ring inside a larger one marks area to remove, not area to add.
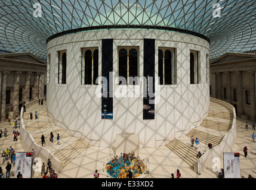
[[[144,39],[143,119],[155,119],[155,39]]]

